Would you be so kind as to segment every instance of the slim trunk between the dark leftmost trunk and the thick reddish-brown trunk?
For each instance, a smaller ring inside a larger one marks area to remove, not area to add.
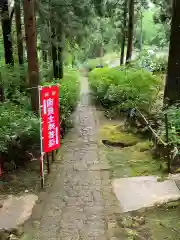
[[[15,1],[15,18],[16,18],[16,33],[17,33],[17,47],[19,64],[24,64],[23,38],[21,28],[21,5],[20,0]]]

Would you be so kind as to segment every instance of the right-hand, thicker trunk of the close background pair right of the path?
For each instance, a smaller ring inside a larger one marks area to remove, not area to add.
[[[132,58],[133,32],[134,32],[134,0],[129,0],[129,23],[128,23],[128,43],[127,43],[126,64],[128,64]]]

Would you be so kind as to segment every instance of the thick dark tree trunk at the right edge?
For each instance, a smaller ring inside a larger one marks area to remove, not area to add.
[[[164,91],[164,102],[173,104],[180,100],[180,1],[173,1],[168,69]]]

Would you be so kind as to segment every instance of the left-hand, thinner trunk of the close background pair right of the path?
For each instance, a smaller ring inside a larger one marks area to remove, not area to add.
[[[126,32],[127,32],[127,0],[124,0],[124,10],[123,10],[123,29],[122,29],[122,39],[121,39],[121,57],[120,57],[120,65],[124,64],[124,50],[126,43]]]

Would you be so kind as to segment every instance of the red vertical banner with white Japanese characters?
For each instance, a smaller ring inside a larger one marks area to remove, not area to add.
[[[39,87],[41,115],[41,153],[60,147],[59,86]]]

